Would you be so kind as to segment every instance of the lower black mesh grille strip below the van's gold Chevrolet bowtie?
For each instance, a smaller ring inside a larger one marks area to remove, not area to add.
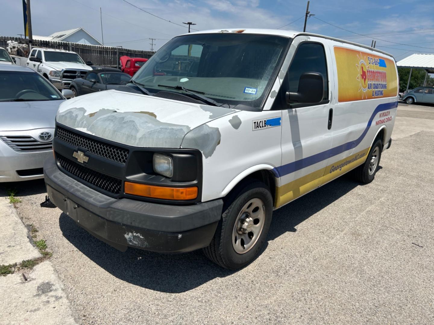
[[[75,175],[79,179],[113,194],[119,194],[121,192],[122,180],[79,165],[77,162],[62,156],[59,153],[56,153],[56,157],[63,169],[70,172],[72,175]]]

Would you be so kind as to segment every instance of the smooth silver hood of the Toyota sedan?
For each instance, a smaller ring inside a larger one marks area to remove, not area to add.
[[[0,103],[0,132],[54,128],[56,101],[5,101]]]

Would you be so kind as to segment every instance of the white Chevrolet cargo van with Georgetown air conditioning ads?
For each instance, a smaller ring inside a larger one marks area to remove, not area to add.
[[[120,250],[204,248],[237,269],[273,210],[351,170],[374,179],[397,103],[395,60],[378,49],[283,30],[181,35],[125,91],[60,106],[47,191]]]

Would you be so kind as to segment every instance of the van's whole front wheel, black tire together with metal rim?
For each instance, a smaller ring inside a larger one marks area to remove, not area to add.
[[[270,229],[273,198],[262,182],[240,186],[227,200],[222,218],[205,255],[220,266],[236,270],[259,253]]]

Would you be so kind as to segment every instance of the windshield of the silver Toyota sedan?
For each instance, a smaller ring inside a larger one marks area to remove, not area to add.
[[[63,99],[39,73],[2,71],[0,101],[54,101]]]

